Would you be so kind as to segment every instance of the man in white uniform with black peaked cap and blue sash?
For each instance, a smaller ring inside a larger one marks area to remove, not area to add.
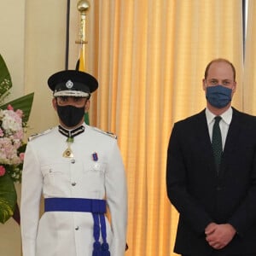
[[[98,83],[88,73],[66,70],[53,74],[48,84],[60,125],[27,143],[20,203],[23,256],[122,256],[123,161],[115,137],[84,124]]]

